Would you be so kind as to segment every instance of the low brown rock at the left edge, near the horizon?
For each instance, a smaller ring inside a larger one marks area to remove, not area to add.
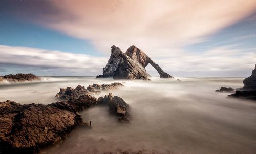
[[[8,81],[8,82],[26,82],[26,81],[35,81],[35,80],[41,80],[39,77],[35,76],[34,74],[9,74],[5,76],[0,76],[0,81]]]

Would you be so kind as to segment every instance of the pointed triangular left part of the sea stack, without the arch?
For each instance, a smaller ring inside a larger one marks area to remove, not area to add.
[[[111,56],[103,68],[103,75],[96,78],[113,77],[114,79],[142,79],[148,80],[150,77],[142,65],[124,54],[118,47],[111,47]]]

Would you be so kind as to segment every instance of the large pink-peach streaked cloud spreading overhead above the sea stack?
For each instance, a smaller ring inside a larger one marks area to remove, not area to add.
[[[247,17],[256,1],[49,1],[58,13],[47,13],[38,23],[73,37],[90,40],[109,53],[143,47],[157,56],[163,49],[204,41],[208,34]],[[170,51],[170,54],[172,52]]]

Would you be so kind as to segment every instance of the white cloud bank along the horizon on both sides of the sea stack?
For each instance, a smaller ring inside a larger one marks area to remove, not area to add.
[[[109,49],[110,50],[110,49]],[[162,69],[174,76],[249,76],[256,61],[255,48],[233,49],[222,46],[204,53],[173,49],[171,55],[153,58]],[[169,49],[162,50],[168,52]],[[110,53],[110,51],[109,51]],[[56,76],[96,76],[102,74],[108,57],[94,57],[61,51],[0,45],[1,74],[30,73]],[[158,76],[152,67],[147,71]]]

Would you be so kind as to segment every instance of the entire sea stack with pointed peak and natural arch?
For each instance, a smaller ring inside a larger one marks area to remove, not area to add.
[[[149,80],[150,75],[145,70],[148,63],[158,71],[161,78],[172,78],[137,47],[131,46],[126,53],[123,53],[115,45],[111,47],[111,56],[103,68],[103,75],[98,75],[96,78],[113,77],[114,79]]]

